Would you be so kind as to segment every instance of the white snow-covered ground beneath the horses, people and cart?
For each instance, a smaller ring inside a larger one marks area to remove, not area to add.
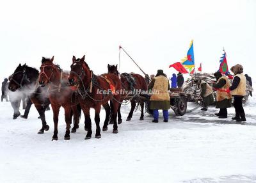
[[[52,111],[46,111],[49,131],[36,134],[41,122],[34,106],[28,120],[12,120],[10,103],[1,102],[0,182],[256,182],[255,104],[250,98],[243,125],[230,119],[234,108],[219,120],[214,107],[179,117],[171,111],[168,123],[152,123],[147,114],[141,122],[137,111],[125,122],[130,106],[124,106],[118,134],[110,125],[101,139],[84,140],[82,117],[69,141],[61,109],[59,140],[51,141]],[[105,112],[100,116],[102,125]]]

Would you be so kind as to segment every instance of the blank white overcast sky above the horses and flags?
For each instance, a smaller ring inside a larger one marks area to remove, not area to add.
[[[256,1],[1,1],[0,78],[19,63],[39,68],[54,56],[64,70],[72,55],[95,74],[118,64],[121,44],[148,74],[186,56],[194,40],[195,62],[203,72],[218,70],[222,49],[228,66],[241,63],[256,77]],[[125,54],[120,72],[138,72]]]

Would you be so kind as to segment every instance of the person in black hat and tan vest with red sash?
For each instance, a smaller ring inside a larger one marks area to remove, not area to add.
[[[214,76],[217,79],[217,83],[212,84],[212,88],[217,90],[216,92],[216,108],[220,109],[219,113],[216,113],[216,116],[219,118],[227,118],[228,111],[227,108],[231,107],[232,96],[230,93],[225,92],[229,86],[230,81],[227,76],[222,76],[221,72],[215,72]]]

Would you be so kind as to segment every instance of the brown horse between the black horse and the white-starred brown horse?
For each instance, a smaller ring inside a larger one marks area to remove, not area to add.
[[[40,86],[48,86],[49,100],[51,101],[54,121],[54,134],[52,140],[58,140],[58,118],[60,107],[65,110],[66,133],[64,139],[70,139],[70,123],[72,112],[74,113],[74,127],[72,132],[76,132],[79,127],[79,113],[77,111],[76,100],[72,99],[72,90],[68,86],[67,72],[63,72],[58,65],[54,65],[51,59],[42,58],[42,65],[40,67],[39,84]]]

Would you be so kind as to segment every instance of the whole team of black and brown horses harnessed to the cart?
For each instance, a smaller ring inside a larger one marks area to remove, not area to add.
[[[120,107],[123,100],[131,100],[131,111],[127,116],[127,121],[131,120],[137,102],[141,106],[140,120],[143,120],[143,100],[136,95],[128,97],[124,93],[113,93],[113,90],[129,91],[138,89],[147,91],[147,82],[144,77],[139,74],[129,74],[134,79],[134,83],[131,84],[127,74],[121,74],[118,77],[117,65],[108,65],[108,74],[96,76],[84,61],[84,56],[83,58],[73,56],[70,72],[63,72],[60,66],[55,65],[53,61],[54,57],[51,59],[43,57],[40,72],[26,64],[19,64],[12,76],[9,77],[9,90],[12,92],[26,92],[31,102],[35,104],[42,120],[42,129],[38,133],[42,134],[49,130],[49,125],[45,120],[45,109],[49,104],[52,107],[54,122],[52,140],[58,140],[60,107],[63,107],[65,111],[66,132],[64,139],[70,139],[72,116],[74,116],[74,125],[71,132],[76,132],[76,129],[79,128],[81,110],[84,113],[84,129],[87,131],[85,139],[92,138],[91,108],[95,109],[95,138],[101,138],[101,106],[106,111],[102,131],[107,131],[108,124],[113,123],[113,133],[118,133],[118,124],[122,123]],[[112,92],[99,93],[99,90]]]

